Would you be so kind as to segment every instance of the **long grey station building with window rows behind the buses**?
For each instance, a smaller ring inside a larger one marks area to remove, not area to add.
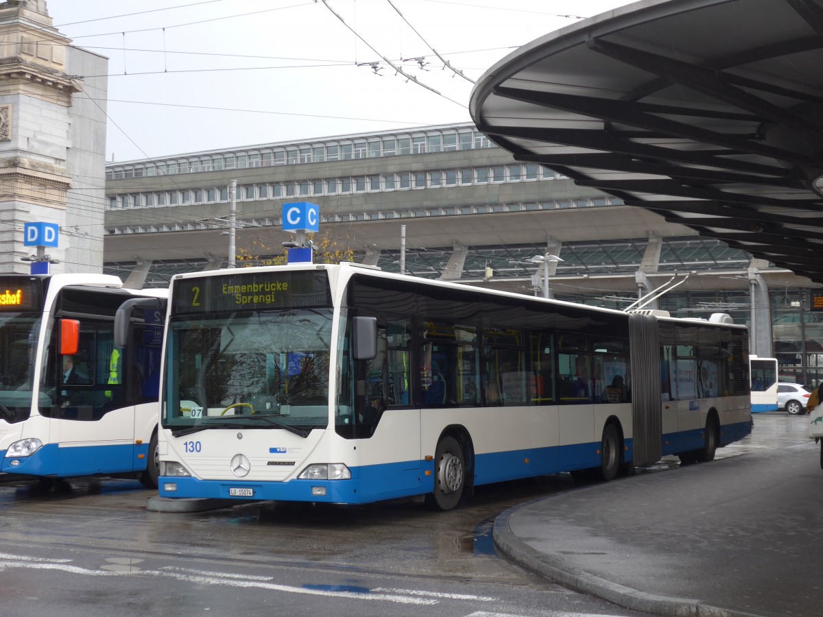
[[[313,202],[320,235],[356,261],[611,308],[676,285],[645,308],[729,313],[783,380],[823,378],[811,280],[515,160],[472,123],[113,162],[105,200],[104,270],[130,286],[226,267],[232,244],[252,262],[282,254],[283,203]]]

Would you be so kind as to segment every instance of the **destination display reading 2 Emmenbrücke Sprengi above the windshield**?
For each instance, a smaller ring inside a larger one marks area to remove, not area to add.
[[[325,270],[267,271],[174,281],[174,313],[220,313],[332,305]]]

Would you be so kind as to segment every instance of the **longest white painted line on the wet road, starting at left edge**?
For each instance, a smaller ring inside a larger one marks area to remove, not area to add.
[[[304,596],[327,596],[348,598],[350,600],[370,600],[370,601],[385,601],[395,602],[397,604],[414,604],[414,605],[434,605],[438,604],[438,600],[427,598],[416,598],[409,596],[395,596],[384,593],[356,593],[354,591],[323,591],[318,589],[307,589],[305,587],[291,587],[289,585],[277,585],[272,582],[263,581],[249,581],[246,578],[237,580],[229,578],[233,576],[229,573],[218,574],[216,576],[208,576],[203,574],[189,574],[171,572],[168,570],[140,570],[137,573],[129,572],[113,572],[111,570],[90,570],[86,568],[79,568],[63,563],[58,563],[57,560],[46,562],[43,559],[30,558],[21,555],[6,555],[6,561],[0,561],[0,571],[7,568],[28,568],[34,570],[60,570],[72,574],[84,574],[93,577],[117,577],[117,576],[156,576],[165,578],[176,578],[179,581],[195,582],[201,585],[226,585],[228,587],[244,587],[258,589],[267,589],[270,591],[283,591],[286,593],[298,593]],[[11,558],[11,559],[8,559]],[[2,556],[0,556],[2,559]]]

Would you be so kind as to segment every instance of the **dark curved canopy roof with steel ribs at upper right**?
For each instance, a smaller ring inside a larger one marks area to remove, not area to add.
[[[823,0],[644,0],[491,67],[511,151],[823,283]]]

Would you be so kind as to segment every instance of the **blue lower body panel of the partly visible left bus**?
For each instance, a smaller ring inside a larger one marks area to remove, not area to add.
[[[138,449],[142,450],[142,459],[137,458]],[[147,445],[60,448],[56,443],[47,443],[30,457],[3,457],[0,471],[58,478],[142,471],[146,469],[147,452]]]

